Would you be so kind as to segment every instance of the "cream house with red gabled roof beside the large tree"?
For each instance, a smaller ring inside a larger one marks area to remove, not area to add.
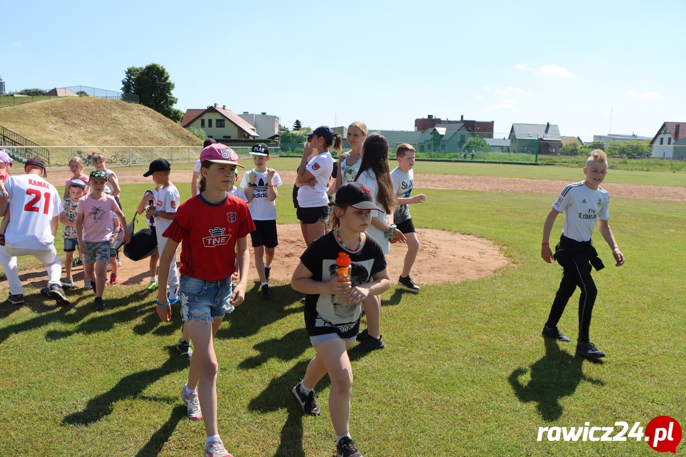
[[[208,106],[204,110],[186,110],[181,127],[198,127],[205,131],[208,138],[217,141],[226,139],[250,140],[257,138],[257,131],[252,124],[231,110],[226,105]]]

